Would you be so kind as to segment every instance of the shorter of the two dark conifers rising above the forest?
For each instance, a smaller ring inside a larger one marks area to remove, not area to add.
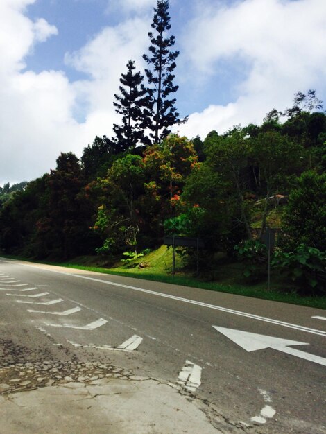
[[[135,72],[135,62],[129,60],[127,73],[121,74],[119,90],[120,95],[114,94],[115,111],[122,115],[122,125],[113,125],[117,141],[117,149],[120,152],[135,148],[140,141],[150,144],[144,136],[144,128],[151,107],[151,98],[143,85],[144,76]]]

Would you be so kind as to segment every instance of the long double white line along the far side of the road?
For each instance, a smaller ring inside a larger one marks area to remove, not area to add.
[[[3,260],[1,260],[1,261],[3,261]],[[3,262],[6,262],[6,261],[3,261]],[[38,267],[35,267],[35,266],[33,266],[31,264],[27,264],[27,263],[21,263],[20,265],[22,265],[24,267],[38,268]],[[172,300],[178,300],[179,302],[184,302],[184,303],[189,303],[189,304],[196,304],[196,306],[203,306],[203,307],[206,307],[208,309],[214,309],[216,311],[221,311],[221,312],[226,312],[226,313],[232,313],[233,315],[239,315],[239,316],[243,316],[243,317],[246,317],[246,318],[251,318],[252,320],[269,322],[271,324],[280,325],[282,327],[288,327],[289,329],[295,329],[295,330],[305,331],[307,333],[313,333],[313,334],[316,334],[316,335],[319,335],[319,336],[326,336],[326,331],[321,331],[321,330],[318,330],[318,329],[311,329],[310,327],[304,327],[304,326],[300,326],[298,324],[291,324],[291,322],[284,322],[284,321],[279,321],[279,320],[273,320],[272,318],[266,318],[264,316],[252,315],[252,313],[246,313],[246,312],[242,312],[242,311],[235,311],[234,309],[227,309],[225,307],[216,306],[214,304],[197,302],[196,300],[190,300],[188,298],[177,297],[176,295],[157,293],[157,291],[152,291],[152,290],[148,290],[148,289],[138,288],[137,286],[117,284],[114,281],[108,281],[108,280],[103,280],[103,279],[95,279],[94,277],[87,277],[87,276],[83,276],[83,275],[74,275],[72,273],[64,272],[64,271],[51,270],[51,269],[46,269],[46,271],[55,272],[55,273],[60,274],[60,275],[76,277],[78,279],[86,279],[86,280],[90,280],[90,281],[96,281],[96,282],[101,283],[101,284],[107,284],[107,285],[111,285],[111,286],[118,286],[119,288],[132,289],[132,290],[139,291],[141,293],[146,293],[146,294],[151,294],[151,295],[157,295],[158,297],[171,298]]]

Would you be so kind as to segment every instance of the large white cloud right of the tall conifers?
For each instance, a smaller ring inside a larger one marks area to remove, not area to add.
[[[273,107],[289,105],[298,90],[326,90],[325,0],[223,3],[206,8],[189,23],[185,35],[182,49],[201,77],[211,80],[208,83],[213,83],[220,60],[246,62],[249,72],[237,84],[233,104],[191,114],[180,127],[182,134],[194,136],[200,130],[205,137],[209,130],[224,132],[239,123],[260,122]]]

